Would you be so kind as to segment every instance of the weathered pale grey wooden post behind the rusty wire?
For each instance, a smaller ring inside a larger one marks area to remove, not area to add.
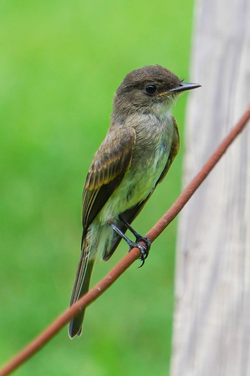
[[[184,186],[250,104],[250,2],[198,0]],[[250,375],[250,128],[181,212],[171,376]]]

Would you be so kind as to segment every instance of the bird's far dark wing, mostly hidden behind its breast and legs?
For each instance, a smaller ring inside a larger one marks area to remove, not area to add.
[[[146,197],[145,200],[143,200],[142,202],[139,202],[138,204],[136,204],[135,206],[133,206],[133,208],[130,208],[130,209],[126,210],[125,212],[121,213],[121,216],[129,224],[131,224],[133,222],[133,220],[137,217],[137,215],[141,212],[141,210],[144,207],[145,203],[147,202],[147,200],[150,198],[151,194],[156,189],[157,184],[161,183],[162,180],[165,178],[165,176],[166,176],[166,174],[167,174],[167,172],[168,172],[168,170],[169,170],[172,162],[174,161],[175,157],[178,154],[179,146],[180,146],[180,137],[179,137],[179,132],[178,132],[178,126],[177,126],[177,123],[176,123],[176,120],[175,120],[174,117],[173,117],[173,122],[174,122],[174,137],[173,137],[173,141],[172,141],[170,153],[169,153],[169,156],[168,156],[167,163],[166,163],[166,165],[165,165],[162,173],[160,174],[160,177],[157,180],[156,185],[154,186],[154,189],[150,192],[150,194]],[[117,227],[123,233],[125,233],[127,231],[126,226],[124,226],[124,224],[121,221],[117,222]],[[103,256],[103,260],[104,261],[107,261],[112,256],[112,254],[115,252],[115,250],[116,250],[118,244],[120,243],[120,241],[121,241],[120,235],[115,234],[115,236],[114,236],[114,238],[112,240],[111,246],[104,253],[104,256]]]

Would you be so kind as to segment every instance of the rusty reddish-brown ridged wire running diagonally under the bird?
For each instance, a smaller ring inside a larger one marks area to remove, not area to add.
[[[202,167],[201,171],[196,177],[189,183],[187,188],[174,202],[171,208],[165,215],[154,225],[154,227],[147,233],[146,237],[150,241],[156,240],[156,238],[162,233],[162,231],[168,226],[168,224],[177,216],[183,206],[188,202],[190,197],[195,193],[197,188],[204,181],[205,177],[210,173],[211,169],[216,165],[222,155],[226,152],[226,149],[234,141],[235,137],[243,130],[247,121],[250,118],[250,107],[244,113],[243,117],[237,123],[237,125],[231,130],[231,132],[222,141],[220,146],[214,152],[214,154],[208,159],[207,163]],[[94,300],[97,299],[109,286],[111,286],[118,277],[135,262],[140,256],[138,248],[133,248],[118,264],[87,294],[81,297],[72,307],[67,309],[61,314],[45,331],[43,331],[38,337],[36,337],[30,344],[28,344],[23,350],[21,350],[12,360],[10,360],[1,370],[0,376],[6,376],[13,370],[19,367],[27,359],[29,359],[34,353],[36,353],[41,347],[43,347],[60,329],[66,325],[82,308],[88,306]]]

